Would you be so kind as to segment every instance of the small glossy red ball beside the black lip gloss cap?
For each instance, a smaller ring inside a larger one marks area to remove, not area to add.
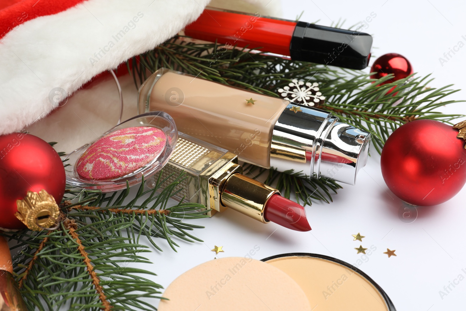
[[[406,57],[396,53],[389,53],[377,58],[370,68],[370,72],[376,72],[376,74],[370,76],[371,79],[380,79],[393,74],[393,78],[381,83],[386,84],[406,78],[413,73],[413,70]]]

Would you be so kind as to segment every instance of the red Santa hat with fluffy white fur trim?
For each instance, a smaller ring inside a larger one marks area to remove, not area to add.
[[[276,0],[247,2],[233,1],[238,10],[256,6],[268,14],[276,14],[279,5]],[[50,100],[55,90],[68,96],[97,74],[176,35],[208,3],[2,0],[0,135],[20,131],[56,108]]]

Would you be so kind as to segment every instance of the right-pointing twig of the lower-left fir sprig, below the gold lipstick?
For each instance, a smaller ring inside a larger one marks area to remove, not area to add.
[[[197,219],[208,217],[205,213],[205,207],[201,204],[191,202],[179,202],[177,205],[167,207],[168,200],[176,195],[180,190],[175,190],[177,186],[186,178],[185,174],[180,174],[171,184],[167,184],[167,180],[171,177],[167,176],[161,179],[161,174],[155,180],[154,188],[144,191],[145,181],[141,183],[137,191],[137,196],[128,204],[123,205],[123,200],[130,194],[130,188],[127,187],[118,196],[117,193],[112,193],[111,196],[95,191],[79,190],[76,196],[79,196],[80,202],[89,202],[83,207],[79,204],[71,204],[66,208],[78,207],[77,213],[69,214],[69,218],[79,221],[85,221],[84,215],[89,216],[88,212],[95,212],[93,215],[99,214],[99,217],[109,217],[110,213],[118,215],[126,215],[134,226],[133,232],[129,232],[138,241],[144,235],[149,239],[149,242],[158,250],[161,248],[154,241],[154,237],[161,237],[167,240],[168,244],[175,251],[178,244],[173,240],[173,237],[179,238],[187,242],[199,241],[194,235],[189,234],[186,230],[194,228],[203,228],[202,226],[187,224],[182,220]],[[146,198],[141,205],[136,205],[136,201]],[[97,213],[98,212],[98,213]],[[137,231],[137,235],[134,232]]]

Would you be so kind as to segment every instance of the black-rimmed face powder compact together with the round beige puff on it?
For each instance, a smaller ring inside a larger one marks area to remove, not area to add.
[[[356,267],[329,256],[293,253],[202,263],[165,290],[159,311],[395,311]]]

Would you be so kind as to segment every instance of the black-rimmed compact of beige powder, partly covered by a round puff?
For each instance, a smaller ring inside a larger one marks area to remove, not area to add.
[[[291,253],[262,259],[290,276],[314,311],[395,311],[387,294],[369,276],[339,259]]]

